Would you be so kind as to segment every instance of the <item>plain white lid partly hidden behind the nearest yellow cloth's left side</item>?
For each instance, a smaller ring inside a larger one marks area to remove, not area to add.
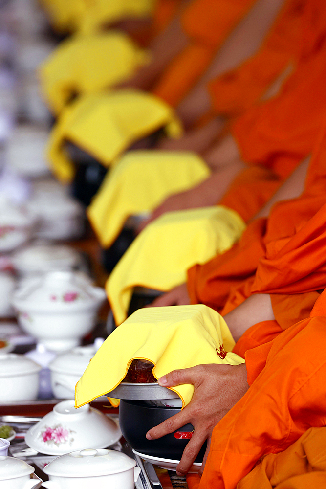
[[[49,364],[49,369],[60,374],[82,376],[96,352],[94,345],[76,346],[70,352],[57,356]]]

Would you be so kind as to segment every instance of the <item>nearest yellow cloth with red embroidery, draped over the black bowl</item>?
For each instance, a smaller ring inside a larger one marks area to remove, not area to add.
[[[76,385],[75,407],[113,390],[136,358],[152,362],[153,374],[160,378],[174,369],[201,364],[244,363],[231,352],[234,344],[222,316],[203,304],[138,309],[91,359]],[[184,407],[192,399],[194,386],[183,384],[171,390]]]

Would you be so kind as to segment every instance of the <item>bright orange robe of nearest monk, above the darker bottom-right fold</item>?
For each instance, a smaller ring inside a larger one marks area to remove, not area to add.
[[[250,388],[213,431],[200,489],[236,488],[262,456],[326,424],[325,292],[319,301],[322,316],[246,352]]]

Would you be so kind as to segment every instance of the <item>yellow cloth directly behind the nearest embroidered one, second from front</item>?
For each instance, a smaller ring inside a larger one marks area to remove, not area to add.
[[[135,286],[170,290],[187,270],[223,253],[239,240],[245,223],[222,205],[169,212],[149,224],[130,245],[106,284],[116,324],[127,317]]]

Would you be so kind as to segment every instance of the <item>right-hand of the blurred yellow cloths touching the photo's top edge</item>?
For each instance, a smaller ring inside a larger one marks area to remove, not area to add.
[[[95,32],[105,24],[126,18],[143,18],[152,15],[156,0],[84,0],[89,3],[79,30]]]

